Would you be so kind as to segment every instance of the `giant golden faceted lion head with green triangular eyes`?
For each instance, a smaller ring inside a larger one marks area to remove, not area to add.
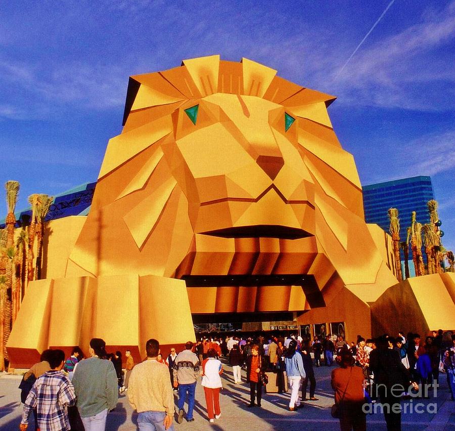
[[[305,310],[393,284],[334,99],[247,59],[132,76],[66,276],[185,279],[192,313]]]

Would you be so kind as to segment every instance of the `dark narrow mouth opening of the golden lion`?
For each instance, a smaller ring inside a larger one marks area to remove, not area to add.
[[[280,225],[239,226],[214,231],[201,232],[204,235],[223,238],[281,238],[298,239],[313,236],[303,229]]]

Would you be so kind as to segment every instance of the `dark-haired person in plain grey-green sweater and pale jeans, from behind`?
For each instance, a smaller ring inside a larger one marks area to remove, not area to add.
[[[109,410],[117,405],[117,373],[106,360],[106,343],[92,338],[88,349],[91,358],[77,364],[72,383],[76,391],[77,409],[85,431],[104,431]]]

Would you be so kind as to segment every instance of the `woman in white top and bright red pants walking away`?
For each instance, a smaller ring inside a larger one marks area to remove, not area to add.
[[[209,422],[213,423],[215,419],[221,416],[219,408],[219,391],[221,389],[221,377],[223,372],[221,362],[216,359],[214,349],[209,349],[207,359],[202,362],[202,386],[204,387],[205,402],[207,404],[207,415]],[[215,414],[213,415],[213,410]]]

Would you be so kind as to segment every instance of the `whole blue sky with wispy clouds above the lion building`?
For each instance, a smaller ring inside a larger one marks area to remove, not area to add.
[[[129,75],[213,54],[337,96],[362,184],[430,175],[455,249],[455,0],[5,2],[0,182],[21,183],[18,209],[97,179]]]

